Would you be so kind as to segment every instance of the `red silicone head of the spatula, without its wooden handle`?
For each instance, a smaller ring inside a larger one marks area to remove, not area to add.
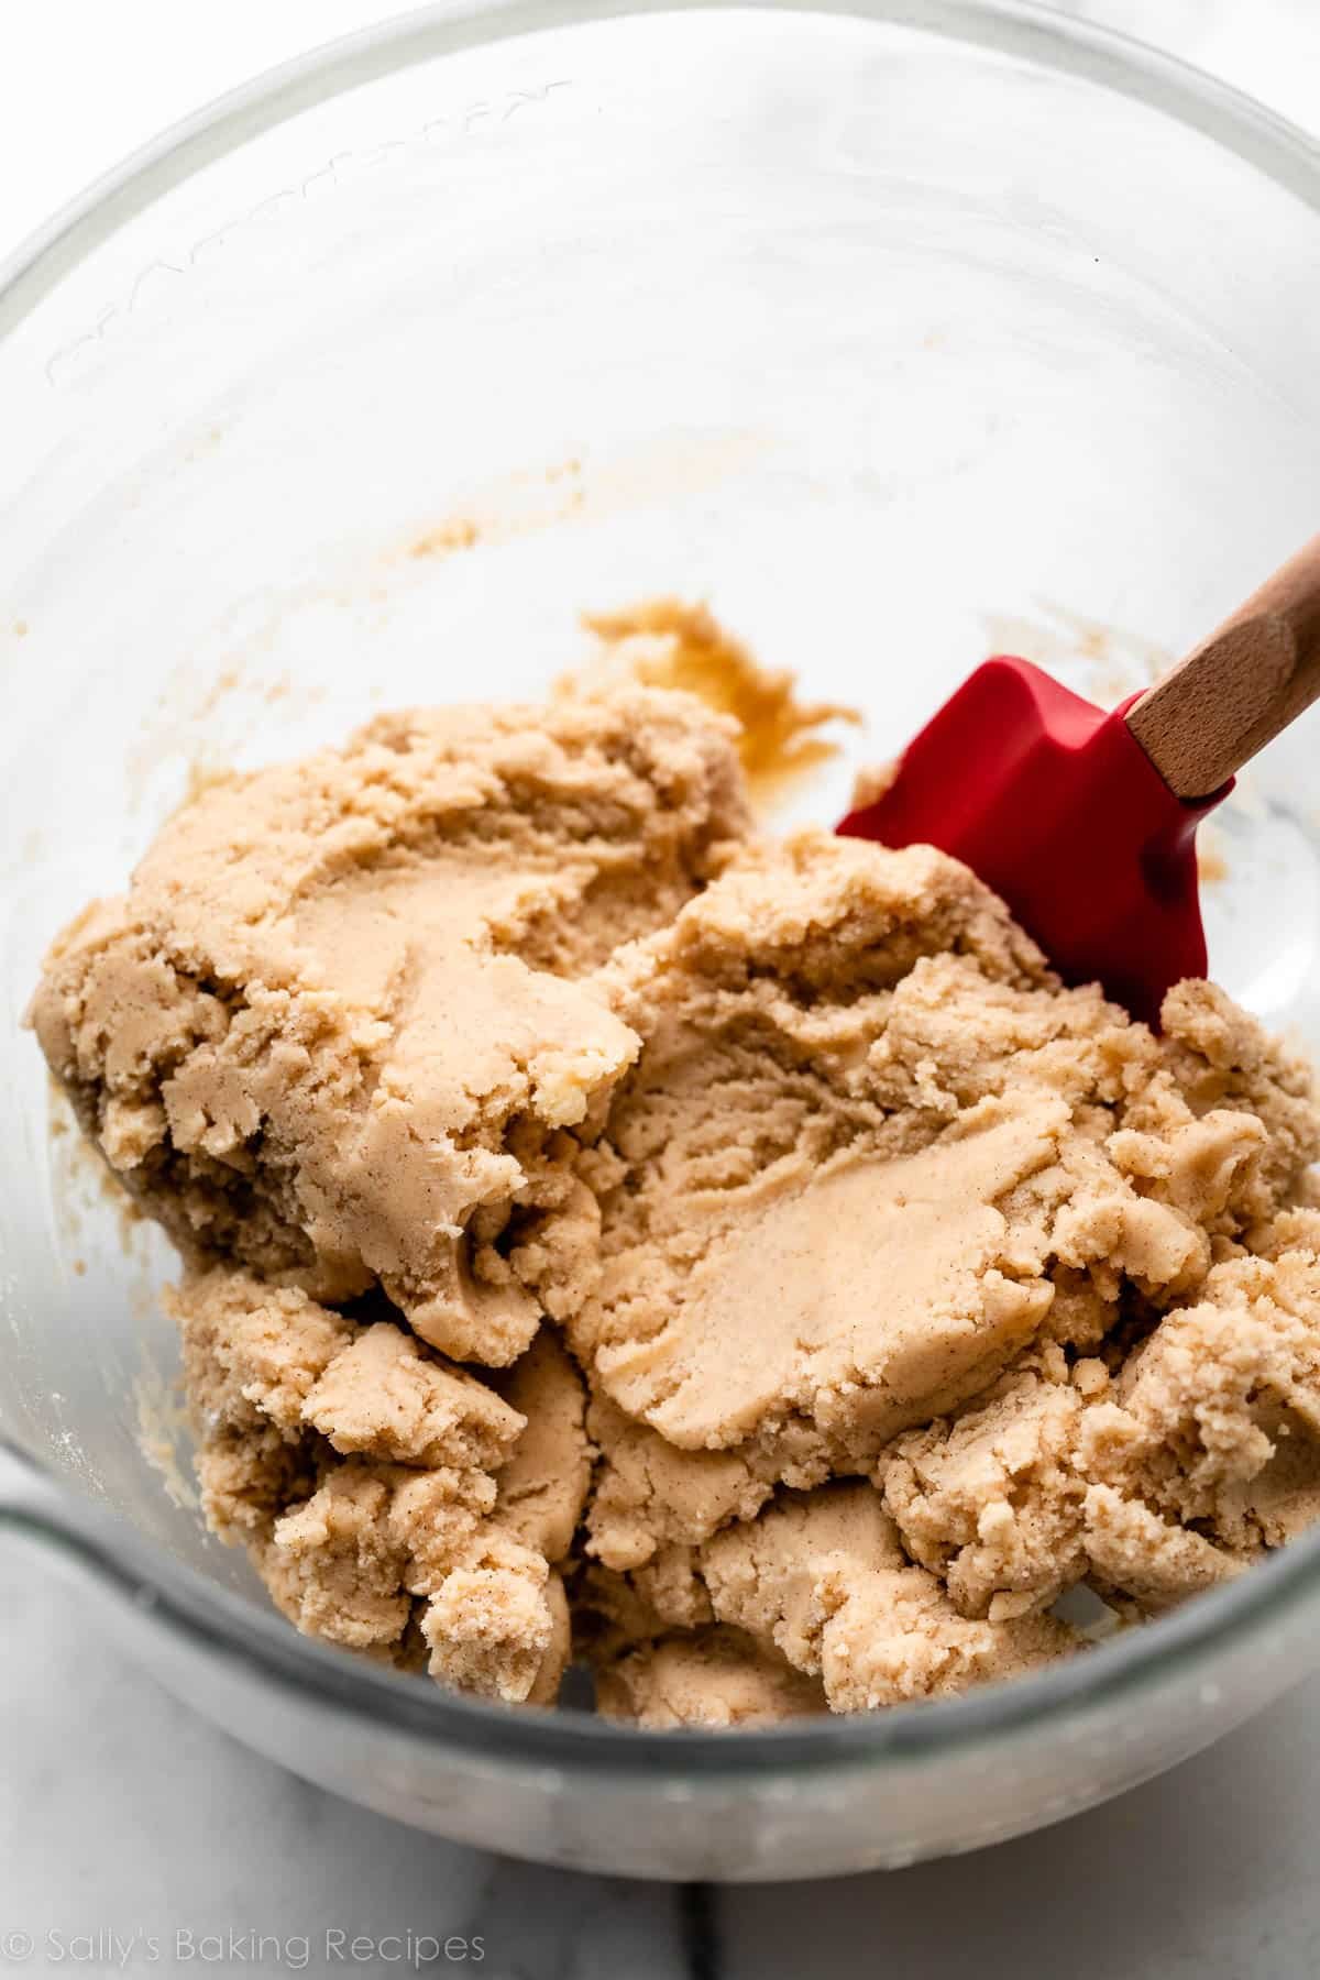
[[[1098,980],[1156,1022],[1170,984],[1205,974],[1195,828],[1229,786],[1178,798],[1128,707],[1106,715],[1025,659],[988,659],[839,832],[954,853],[1067,982]]]

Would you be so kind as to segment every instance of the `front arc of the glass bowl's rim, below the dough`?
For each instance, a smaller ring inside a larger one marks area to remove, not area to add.
[[[0,1449],[24,1465],[34,1487],[0,1489],[0,1533],[51,1550],[239,1679],[249,1675],[299,1703],[315,1701],[368,1727],[522,1774],[558,1766],[604,1778],[645,1772],[657,1782],[691,1786],[752,1784],[877,1764],[906,1768],[1065,1723],[1069,1736],[1077,1736],[1081,1719],[1118,1705],[1130,1709],[1142,1691],[1172,1683],[1199,1681],[1211,1693],[1207,1705],[1215,1703],[1211,1659],[1259,1635],[1263,1626],[1284,1626],[1320,1596],[1316,1531],[1170,1616],[1118,1632],[1031,1677],[873,1715],[821,1715],[716,1734],[643,1731],[582,1711],[511,1709],[463,1697],[299,1635],[273,1608],[170,1560],[121,1517],[75,1501],[30,1451],[8,1439],[0,1439]]]

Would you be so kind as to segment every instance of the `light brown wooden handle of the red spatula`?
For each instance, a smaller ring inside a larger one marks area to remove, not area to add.
[[[1207,798],[1320,697],[1320,537],[1128,711],[1179,798]]]

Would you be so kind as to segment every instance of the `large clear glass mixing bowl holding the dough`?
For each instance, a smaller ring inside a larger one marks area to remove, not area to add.
[[[168,1249],[20,1020],[196,778],[534,693],[582,608],[708,598],[859,703],[803,818],[988,649],[1140,685],[1320,513],[1318,208],[1298,133],[1033,8],[473,0],[224,99],[2,271],[0,1519],[176,1693],[443,1835],[754,1879],[1049,1822],[1312,1663],[1320,1536],[1037,1679],[756,1734],[305,1641],[200,1529]],[[1207,901],[1217,974],[1320,1043],[1314,744],[1243,778]]]

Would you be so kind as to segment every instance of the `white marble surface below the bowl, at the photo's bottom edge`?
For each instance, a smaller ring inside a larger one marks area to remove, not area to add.
[[[683,1891],[439,1843],[222,1738],[105,1651],[95,1606],[18,1546],[0,1552],[0,1974],[14,1930],[168,1940],[327,1927],[481,1936],[491,1980],[1320,1972],[1320,1681],[1041,1835],[893,1875],[710,1893],[699,1952]],[[40,1952],[26,1964],[55,1970]]]

